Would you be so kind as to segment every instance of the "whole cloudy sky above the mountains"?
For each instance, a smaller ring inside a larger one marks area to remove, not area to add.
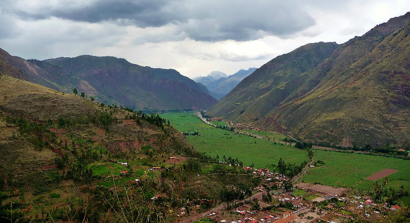
[[[344,43],[409,10],[408,0],[2,0],[0,48],[233,74],[307,43]]]

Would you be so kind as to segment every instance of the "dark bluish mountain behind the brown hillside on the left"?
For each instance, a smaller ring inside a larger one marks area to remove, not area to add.
[[[63,92],[85,92],[100,102],[139,110],[206,109],[216,103],[208,89],[173,69],[142,67],[111,56],[46,60],[0,50],[0,72]]]

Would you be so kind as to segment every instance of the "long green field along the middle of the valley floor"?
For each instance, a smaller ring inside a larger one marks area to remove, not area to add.
[[[297,165],[308,159],[307,152],[304,150],[275,145],[273,141],[214,128],[202,123],[194,115],[194,112],[161,114],[181,132],[198,132],[199,135],[187,135],[187,140],[198,152],[211,156],[231,156],[241,160],[245,166],[253,163],[255,168],[269,168],[271,164],[276,165],[279,158]]]

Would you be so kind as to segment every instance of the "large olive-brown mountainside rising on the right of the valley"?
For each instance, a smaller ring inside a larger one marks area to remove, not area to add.
[[[335,145],[410,143],[410,12],[278,56],[207,113]]]

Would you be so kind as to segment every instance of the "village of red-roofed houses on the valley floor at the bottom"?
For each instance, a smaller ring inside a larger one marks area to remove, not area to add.
[[[221,205],[203,213],[202,219],[222,223],[338,223],[357,217],[367,221],[380,220],[381,213],[400,210],[397,205],[376,204],[370,196],[357,196],[347,188],[298,183],[285,190],[284,184],[291,180],[288,177],[269,169],[243,169],[263,177],[261,186],[254,188],[249,198],[233,202],[230,207],[234,209],[228,210],[227,205]],[[183,215],[184,210],[180,213]]]

